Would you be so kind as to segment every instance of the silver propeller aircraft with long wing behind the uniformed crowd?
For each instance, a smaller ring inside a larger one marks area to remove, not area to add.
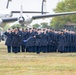
[[[47,13],[47,12],[43,12],[43,7],[42,7],[42,12],[38,12],[38,11],[23,11],[22,10],[22,5],[21,5],[21,11],[8,11],[8,4],[9,1],[7,2],[7,6],[6,6],[6,10],[1,12],[0,11],[0,26],[2,27],[3,23],[9,23],[9,22],[19,22],[21,25],[22,24],[30,24],[32,23],[33,20],[35,19],[42,19],[42,18],[50,18],[50,17],[56,17],[56,16],[62,16],[62,15],[71,15],[71,14],[76,14],[75,12],[63,12],[63,13],[55,13],[55,14],[43,14],[43,13]],[[46,0],[42,1],[45,2]],[[19,17],[12,17],[12,13],[20,13]],[[37,16],[23,16],[23,13],[42,13],[41,15],[37,15]]]

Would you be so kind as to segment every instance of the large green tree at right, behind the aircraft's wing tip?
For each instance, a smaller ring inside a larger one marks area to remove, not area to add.
[[[63,0],[57,4],[54,12],[71,12],[76,11],[76,0]],[[76,15],[66,15],[54,17],[50,22],[51,27],[60,29],[63,28],[67,22],[76,23]]]

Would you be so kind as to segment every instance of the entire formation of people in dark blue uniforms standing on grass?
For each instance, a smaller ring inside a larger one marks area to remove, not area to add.
[[[8,29],[5,45],[8,53],[76,52],[76,32],[53,29]]]

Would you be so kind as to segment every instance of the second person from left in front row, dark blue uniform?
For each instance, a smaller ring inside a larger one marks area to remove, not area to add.
[[[21,35],[18,33],[18,29],[16,28],[14,32],[12,32],[12,47],[13,52],[18,53],[21,45]]]

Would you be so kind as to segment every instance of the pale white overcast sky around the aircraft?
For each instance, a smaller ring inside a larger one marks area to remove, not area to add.
[[[0,9],[5,9],[8,0],[0,0]],[[57,3],[61,0],[46,0],[46,11],[54,13],[53,9],[56,7]],[[25,11],[41,11],[42,0],[12,0],[9,3],[9,10],[20,10],[20,5],[23,5],[23,10]],[[15,14],[14,16],[19,16],[20,14]],[[28,16],[38,15],[38,14],[26,14]],[[49,19],[41,20],[49,21]],[[35,20],[34,22],[40,22],[40,20]]]

